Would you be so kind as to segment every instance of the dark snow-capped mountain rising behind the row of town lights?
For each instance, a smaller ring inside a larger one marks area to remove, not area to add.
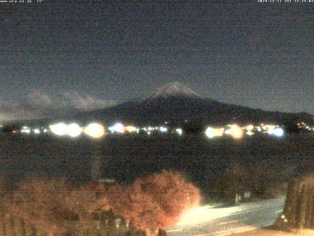
[[[157,124],[167,121],[170,124],[275,122],[289,125],[301,120],[313,123],[314,120],[314,116],[308,113],[269,112],[218,102],[200,96],[180,83],[166,84],[148,96],[113,107],[80,113],[76,118],[133,124]]]

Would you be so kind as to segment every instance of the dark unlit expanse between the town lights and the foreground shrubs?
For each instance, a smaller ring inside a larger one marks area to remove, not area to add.
[[[204,136],[106,136],[95,141],[54,136],[0,136],[2,182],[26,177],[91,179],[91,158],[101,156],[101,176],[131,182],[161,169],[187,175],[204,193],[219,191],[226,170],[241,167],[264,182],[284,182],[313,170],[314,136],[286,135],[209,140]],[[249,177],[250,178],[250,177]]]

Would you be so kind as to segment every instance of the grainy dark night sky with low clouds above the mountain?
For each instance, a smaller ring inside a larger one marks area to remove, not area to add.
[[[0,3],[0,120],[103,108],[169,82],[314,114],[314,3],[113,2]]]

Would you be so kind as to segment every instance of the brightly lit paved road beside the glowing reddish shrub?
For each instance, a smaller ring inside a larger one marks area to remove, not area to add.
[[[272,225],[283,211],[285,198],[245,203],[236,207],[199,207],[183,214],[168,236],[225,236]]]

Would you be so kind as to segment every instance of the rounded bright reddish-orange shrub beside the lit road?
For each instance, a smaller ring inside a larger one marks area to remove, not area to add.
[[[110,189],[113,211],[147,233],[173,226],[184,210],[199,203],[199,190],[179,173],[169,171]]]

